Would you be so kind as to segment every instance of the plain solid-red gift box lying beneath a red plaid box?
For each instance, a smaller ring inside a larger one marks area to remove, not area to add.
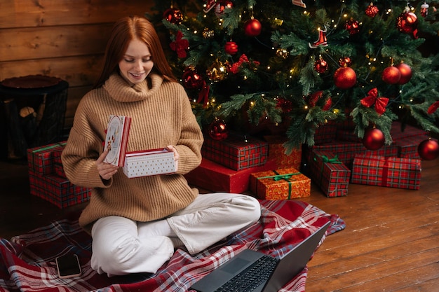
[[[265,165],[233,170],[224,165],[203,158],[201,165],[184,177],[188,183],[198,188],[214,192],[243,193],[249,188],[250,174],[275,169],[276,161],[267,160]]]

